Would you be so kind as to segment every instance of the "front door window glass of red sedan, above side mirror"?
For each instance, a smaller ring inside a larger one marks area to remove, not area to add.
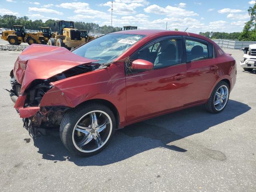
[[[164,68],[182,62],[182,39],[164,38],[135,52],[130,60],[143,59],[154,64],[154,69]]]

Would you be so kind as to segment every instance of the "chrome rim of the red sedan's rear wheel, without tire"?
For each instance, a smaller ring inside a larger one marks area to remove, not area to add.
[[[228,87],[226,85],[220,86],[214,96],[214,108],[217,111],[222,110],[228,102]]]

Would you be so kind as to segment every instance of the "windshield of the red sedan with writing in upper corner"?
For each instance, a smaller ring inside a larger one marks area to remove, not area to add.
[[[109,63],[144,37],[137,34],[107,34],[75,49],[73,53],[99,60],[100,64]]]

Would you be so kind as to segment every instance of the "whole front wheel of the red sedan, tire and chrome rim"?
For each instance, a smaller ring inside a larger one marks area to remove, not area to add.
[[[67,112],[60,124],[60,138],[74,155],[88,157],[102,151],[116,130],[113,112],[90,103]]]

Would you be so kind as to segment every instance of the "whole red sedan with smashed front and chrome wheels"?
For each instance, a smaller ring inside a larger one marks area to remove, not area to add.
[[[10,96],[29,134],[57,130],[70,152],[90,156],[134,122],[201,104],[222,112],[236,62],[197,34],[130,30],[72,52],[32,44],[10,76]]]

